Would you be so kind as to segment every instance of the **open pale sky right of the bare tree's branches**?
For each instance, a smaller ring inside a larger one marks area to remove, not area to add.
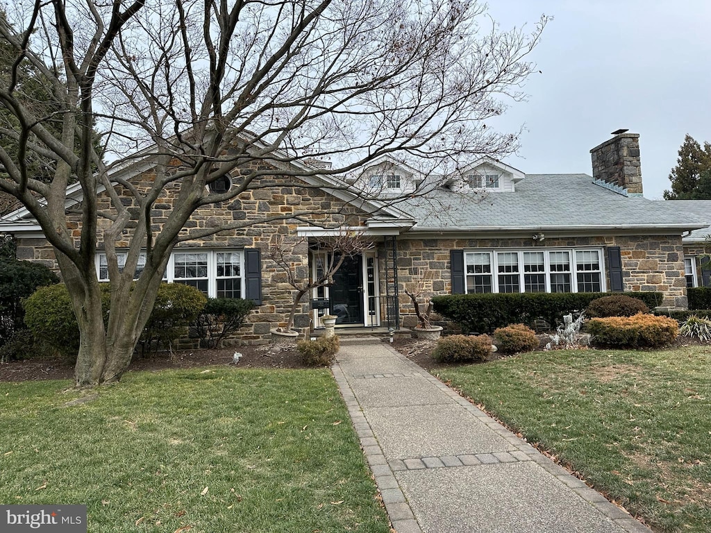
[[[590,149],[620,128],[640,135],[643,190],[670,188],[685,134],[711,142],[711,1],[490,0],[502,30],[548,23],[530,55],[537,65],[494,127],[523,125],[518,154],[529,174],[592,174]],[[538,73],[540,70],[542,73]]]

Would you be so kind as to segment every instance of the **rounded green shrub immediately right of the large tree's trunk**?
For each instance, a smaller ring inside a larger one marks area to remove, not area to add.
[[[187,327],[198,317],[207,298],[193,286],[179,283],[161,283],[156,304],[146,327],[141,333],[141,353],[153,348],[170,348],[175,340],[186,333]]]

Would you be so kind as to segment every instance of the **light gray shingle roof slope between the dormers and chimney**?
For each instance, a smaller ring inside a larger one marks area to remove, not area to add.
[[[673,202],[626,197],[593,183],[587,174],[528,174],[513,193],[439,189],[428,199],[397,205],[417,220],[415,230],[692,229],[711,223]],[[707,217],[710,218],[711,217]]]

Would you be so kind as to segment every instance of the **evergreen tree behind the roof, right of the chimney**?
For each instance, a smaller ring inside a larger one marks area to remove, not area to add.
[[[671,190],[664,191],[664,199],[711,200],[710,176],[702,178],[705,171],[711,171],[711,144],[704,142],[702,148],[687,134],[679,149],[677,164],[669,174]]]

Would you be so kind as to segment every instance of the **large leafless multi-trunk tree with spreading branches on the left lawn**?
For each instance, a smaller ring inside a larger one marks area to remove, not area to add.
[[[15,0],[7,9],[0,38],[14,63],[0,105],[17,126],[0,133],[16,141],[18,155],[0,146],[0,190],[26,206],[55,249],[80,326],[79,386],[126,370],[176,244],[255,223],[183,231],[197,209],[274,185],[275,172],[281,186],[316,186],[309,176],[342,176],[390,154],[425,175],[447,174],[515,149],[515,135],[485,121],[503,112],[502,97],[521,97],[533,71],[526,56],[546,22],[530,35],[499,31],[483,6],[464,0]],[[50,85],[50,114],[23,104],[25,65]],[[52,161],[50,183],[28,170],[29,153]],[[305,158],[334,164],[316,169]],[[137,188],[121,170],[144,161],[154,179]],[[206,186],[226,173],[239,174],[236,186]],[[68,210],[73,182],[82,202]],[[177,200],[156,227],[151,208],[166,188]],[[108,207],[97,200],[101,190]],[[122,203],[126,194],[132,205]],[[68,230],[72,210],[78,237]],[[297,209],[256,222],[308,215]],[[126,238],[122,268],[116,243]],[[112,288],[106,328],[100,242]],[[131,289],[140,254],[146,266]]]

